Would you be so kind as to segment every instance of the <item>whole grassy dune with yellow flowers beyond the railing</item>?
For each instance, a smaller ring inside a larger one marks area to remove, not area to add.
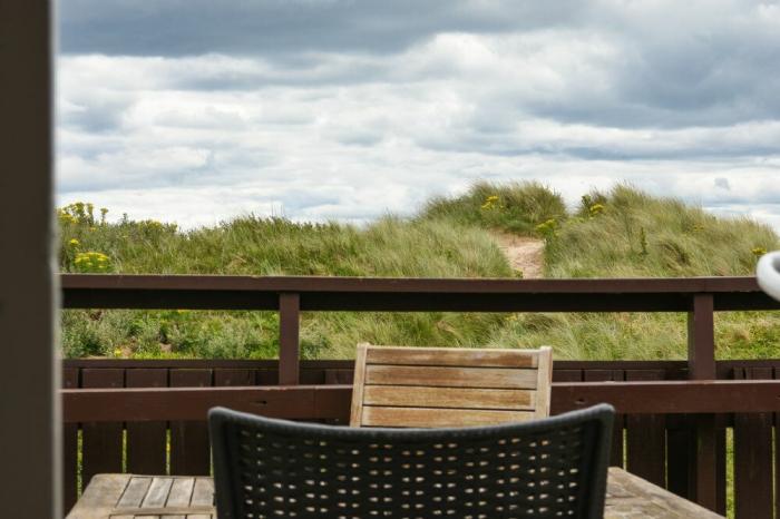
[[[412,218],[365,227],[244,217],[215,228],[104,222],[88,205],[59,212],[64,272],[511,277],[490,231],[546,242],[549,277],[747,275],[772,231],[723,219],[625,186],[591,193],[569,213],[539,184],[477,184],[430,200]],[[66,356],[274,358],[276,315],[264,312],[67,311]],[[720,358],[780,354],[780,315],[718,315]],[[557,359],[675,359],[681,314],[304,314],[302,355],[353,356],[362,341],[410,345],[552,344]]]

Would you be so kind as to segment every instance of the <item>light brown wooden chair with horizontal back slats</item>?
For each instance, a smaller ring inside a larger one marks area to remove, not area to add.
[[[553,351],[359,344],[352,427],[490,425],[549,415]]]

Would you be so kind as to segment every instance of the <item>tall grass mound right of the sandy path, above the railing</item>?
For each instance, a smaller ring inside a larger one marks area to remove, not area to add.
[[[597,207],[597,210],[593,210]],[[674,198],[626,186],[583,197],[546,248],[550,277],[688,277],[753,273],[772,229],[720,218]]]

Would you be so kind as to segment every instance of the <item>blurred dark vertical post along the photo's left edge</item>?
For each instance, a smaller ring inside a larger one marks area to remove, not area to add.
[[[0,517],[61,518],[52,4],[0,1]]]

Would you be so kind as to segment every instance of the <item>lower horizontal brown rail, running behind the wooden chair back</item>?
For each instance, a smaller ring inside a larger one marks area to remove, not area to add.
[[[284,419],[348,419],[351,385],[62,390],[62,418],[75,422],[205,420],[216,405]],[[552,412],[610,403],[618,413],[780,411],[780,381],[557,382]]]

